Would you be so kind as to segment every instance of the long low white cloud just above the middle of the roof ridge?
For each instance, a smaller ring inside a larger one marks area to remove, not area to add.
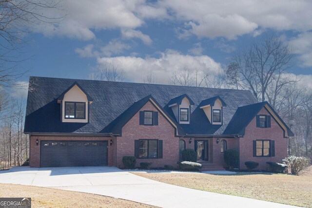
[[[220,64],[208,56],[183,55],[174,50],[167,50],[160,54],[159,58],[154,57],[102,57],[98,63],[114,63],[125,76],[134,82],[142,82],[142,75],[148,70],[153,70],[156,83],[167,84],[171,74],[183,67],[199,72],[217,74]]]

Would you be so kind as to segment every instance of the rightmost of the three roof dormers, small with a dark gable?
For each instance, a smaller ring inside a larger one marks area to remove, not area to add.
[[[208,98],[199,104],[199,108],[205,112],[210,123],[214,125],[222,125],[223,107],[226,107],[226,103],[219,96]]]

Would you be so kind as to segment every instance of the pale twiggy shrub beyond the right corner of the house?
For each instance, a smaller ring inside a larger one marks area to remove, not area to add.
[[[288,165],[293,175],[298,175],[301,170],[310,165],[310,159],[307,157],[289,156],[283,162]]]

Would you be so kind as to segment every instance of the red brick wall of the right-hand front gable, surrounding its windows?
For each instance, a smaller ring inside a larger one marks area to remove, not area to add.
[[[265,108],[258,114],[270,115]],[[254,157],[253,156],[253,140],[269,139],[275,141],[275,156],[274,157]],[[271,128],[257,128],[256,117],[250,122],[245,129],[245,135],[239,139],[240,151],[240,169],[246,169],[246,161],[254,161],[259,163],[258,169],[267,170],[266,162],[281,163],[282,159],[287,157],[287,138],[283,137],[283,130],[271,116]]]

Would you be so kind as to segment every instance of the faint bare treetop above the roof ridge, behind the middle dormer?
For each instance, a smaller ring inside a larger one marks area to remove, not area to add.
[[[194,86],[194,72],[187,67],[174,71],[169,78],[169,82],[173,85]]]

